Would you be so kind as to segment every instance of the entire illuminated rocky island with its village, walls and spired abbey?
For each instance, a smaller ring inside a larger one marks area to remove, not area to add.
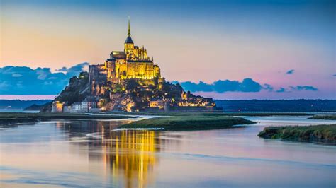
[[[213,111],[212,98],[185,91],[179,83],[165,81],[145,47],[136,46],[128,34],[123,51],[112,51],[104,64],[89,66],[70,79],[47,112],[158,112]]]

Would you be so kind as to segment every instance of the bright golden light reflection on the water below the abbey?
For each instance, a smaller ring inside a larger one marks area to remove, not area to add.
[[[103,162],[111,168],[113,177],[123,177],[125,187],[147,187],[153,180],[155,152],[159,150],[155,134],[155,131],[119,131],[105,138]]]

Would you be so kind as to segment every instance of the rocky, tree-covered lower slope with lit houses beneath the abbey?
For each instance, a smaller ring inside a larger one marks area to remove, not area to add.
[[[87,72],[72,77],[69,86],[62,90],[54,102],[70,106],[74,102],[83,102],[86,98],[96,98],[95,106],[99,110],[127,112],[145,111],[148,108],[209,111],[215,107],[215,102],[211,98],[192,95],[190,92],[185,92],[179,83],[169,83],[164,78],[130,78],[120,80],[117,83],[108,82],[106,79],[95,79],[91,82],[90,85]],[[169,107],[166,107],[168,105]],[[60,108],[60,112],[62,109]],[[47,105],[42,111],[51,112],[51,105]]]

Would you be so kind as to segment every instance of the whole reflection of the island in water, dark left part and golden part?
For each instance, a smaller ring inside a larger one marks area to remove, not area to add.
[[[57,123],[69,136],[89,135],[89,160],[102,160],[113,182],[124,180],[124,187],[147,187],[157,163],[160,141],[157,131],[113,131],[120,122],[81,121]],[[162,144],[162,143],[161,143]],[[99,151],[99,148],[101,151]]]

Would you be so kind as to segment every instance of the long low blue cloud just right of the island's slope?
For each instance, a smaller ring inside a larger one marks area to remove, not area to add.
[[[199,81],[198,83],[194,83],[191,81],[181,82],[181,86],[185,90],[190,90],[191,92],[216,92],[216,93],[225,93],[229,91],[237,91],[237,92],[259,92],[262,89],[273,90],[270,85],[260,85],[256,81],[253,81],[251,78],[245,78],[240,81],[230,81],[230,80],[218,80],[211,84],[204,83],[203,81]]]

